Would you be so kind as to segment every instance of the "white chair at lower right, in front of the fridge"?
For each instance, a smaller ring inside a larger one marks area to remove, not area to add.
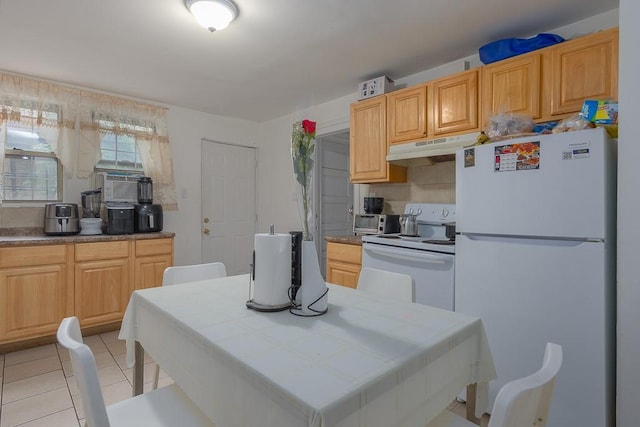
[[[547,343],[542,368],[527,377],[505,384],[496,396],[488,427],[544,427],[555,378],[562,365],[562,347]],[[470,421],[443,411],[427,427],[477,427]]]

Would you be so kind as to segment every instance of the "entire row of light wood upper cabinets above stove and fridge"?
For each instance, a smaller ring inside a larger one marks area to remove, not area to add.
[[[535,122],[618,98],[618,29],[600,31],[351,105],[351,181],[406,182],[389,145],[478,132],[495,114]]]

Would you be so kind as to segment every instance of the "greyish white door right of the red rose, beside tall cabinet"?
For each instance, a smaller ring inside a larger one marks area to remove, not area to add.
[[[327,236],[353,233],[353,184],[349,181],[349,131],[322,136],[318,140],[319,185],[316,198],[320,209],[319,247],[320,271],[325,274]],[[316,202],[316,203],[317,203]]]

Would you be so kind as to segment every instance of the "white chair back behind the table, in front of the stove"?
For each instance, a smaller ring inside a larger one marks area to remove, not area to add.
[[[413,278],[408,274],[363,268],[360,270],[357,289],[407,302],[416,300]]]

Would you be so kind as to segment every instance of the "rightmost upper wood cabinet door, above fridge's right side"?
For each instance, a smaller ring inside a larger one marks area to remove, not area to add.
[[[576,113],[585,99],[618,99],[618,29],[560,43],[551,55],[550,119]]]

